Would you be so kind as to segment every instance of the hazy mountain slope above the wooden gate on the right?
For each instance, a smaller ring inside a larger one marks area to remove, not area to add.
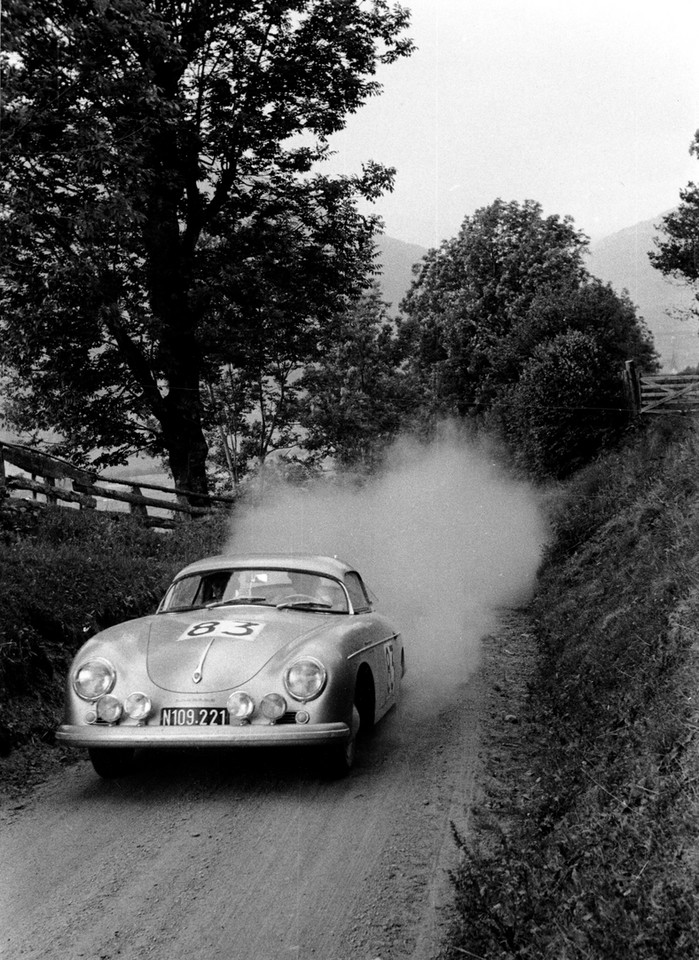
[[[648,259],[660,234],[654,220],[644,220],[593,243],[588,267],[593,276],[611,283],[619,293],[626,289],[639,316],[646,321],[663,369],[668,373],[699,364],[699,326],[682,320],[692,305],[694,292],[686,284],[669,280]]]

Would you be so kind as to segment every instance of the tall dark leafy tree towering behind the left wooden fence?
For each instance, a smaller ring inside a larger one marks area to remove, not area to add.
[[[408,14],[387,0],[3,13],[0,360],[16,416],[97,462],[164,453],[204,493],[212,366],[235,363],[266,310],[301,342],[364,285],[376,220],[356,201],[392,171],[313,168],[377,93],[377,64],[410,52]]]

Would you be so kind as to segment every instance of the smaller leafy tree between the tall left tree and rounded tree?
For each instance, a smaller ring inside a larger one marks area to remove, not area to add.
[[[345,464],[371,464],[414,409],[414,392],[387,305],[374,287],[329,324],[301,386],[304,447]]]

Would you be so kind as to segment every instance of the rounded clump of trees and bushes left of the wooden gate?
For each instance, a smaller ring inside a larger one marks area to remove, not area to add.
[[[497,423],[535,473],[564,474],[618,435],[624,361],[656,364],[635,307],[590,276],[586,248],[571,218],[496,200],[428,253],[403,304],[433,408]]]

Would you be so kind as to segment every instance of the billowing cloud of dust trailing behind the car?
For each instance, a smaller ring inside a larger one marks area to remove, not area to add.
[[[453,694],[478,664],[499,608],[527,599],[546,524],[533,490],[485,445],[446,431],[398,442],[364,483],[276,486],[238,511],[232,553],[322,553],[356,566],[403,634],[426,696]]]

